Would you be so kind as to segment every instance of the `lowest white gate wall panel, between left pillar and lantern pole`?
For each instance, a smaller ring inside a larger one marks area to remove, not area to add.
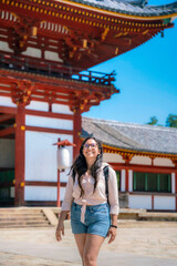
[[[25,186],[24,201],[56,201],[58,190],[54,186]]]

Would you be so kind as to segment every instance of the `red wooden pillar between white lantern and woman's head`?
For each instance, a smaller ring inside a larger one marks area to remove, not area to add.
[[[74,110],[74,140],[73,143],[76,144],[76,146],[73,149],[73,160],[76,158],[76,156],[80,153],[80,146],[81,146],[81,131],[82,131],[82,125],[81,125],[81,111],[80,109]]]

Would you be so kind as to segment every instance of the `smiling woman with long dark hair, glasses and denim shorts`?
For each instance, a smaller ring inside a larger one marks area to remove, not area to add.
[[[62,211],[56,227],[56,239],[64,235],[64,219],[71,211],[71,227],[84,266],[96,266],[100,248],[110,237],[116,237],[118,190],[115,171],[108,166],[108,203],[102,162],[103,149],[94,137],[81,145],[80,155],[71,167]]]

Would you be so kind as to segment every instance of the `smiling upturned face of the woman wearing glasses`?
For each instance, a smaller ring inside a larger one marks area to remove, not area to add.
[[[85,156],[86,161],[90,158],[96,160],[97,154],[100,154],[100,150],[95,140],[87,140],[83,146],[83,155]]]

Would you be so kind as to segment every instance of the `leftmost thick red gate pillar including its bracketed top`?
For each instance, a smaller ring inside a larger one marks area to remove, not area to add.
[[[24,155],[25,155],[25,113],[24,109],[31,101],[34,83],[22,80],[11,83],[12,102],[17,104],[15,115],[15,162],[14,162],[14,205],[24,205]]]

